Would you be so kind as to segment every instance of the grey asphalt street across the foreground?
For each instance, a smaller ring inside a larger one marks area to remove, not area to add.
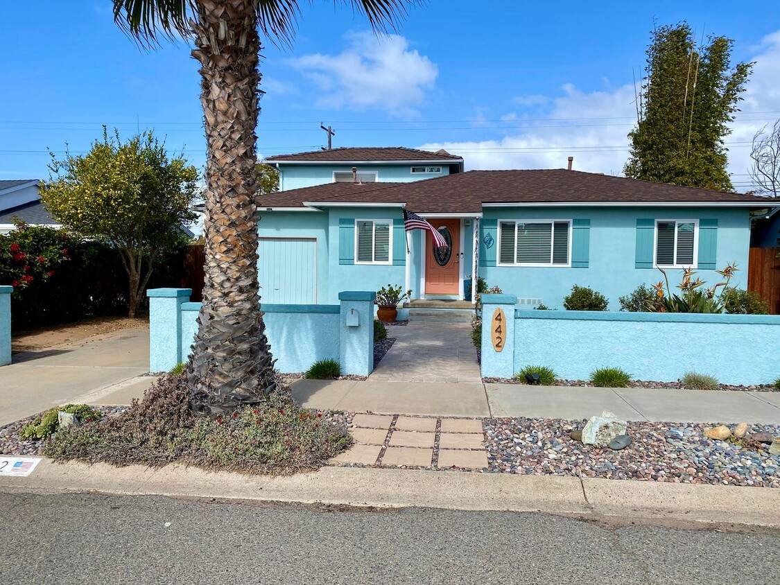
[[[0,583],[780,583],[780,534],[0,492]]]

